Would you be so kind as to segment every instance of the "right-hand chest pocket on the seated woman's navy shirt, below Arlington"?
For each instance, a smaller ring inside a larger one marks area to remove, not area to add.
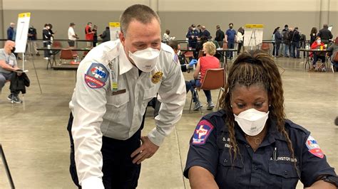
[[[298,175],[295,164],[290,162],[269,161],[270,183],[277,188],[296,188]]]

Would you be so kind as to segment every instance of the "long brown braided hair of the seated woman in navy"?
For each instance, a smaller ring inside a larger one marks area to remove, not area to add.
[[[227,77],[225,92],[220,99],[220,107],[225,110],[224,119],[229,131],[230,145],[232,146],[232,148],[229,148],[232,162],[235,161],[237,154],[240,154],[237,140],[235,139],[235,117],[230,104],[232,91],[238,85],[250,87],[255,84],[264,86],[267,91],[271,104],[269,107],[269,119],[276,121],[277,130],[287,139],[287,147],[292,158],[295,158],[289,134],[285,130],[284,91],[280,72],[270,55],[267,55],[262,50],[252,50],[241,53],[233,63]],[[297,170],[296,162],[295,168]]]

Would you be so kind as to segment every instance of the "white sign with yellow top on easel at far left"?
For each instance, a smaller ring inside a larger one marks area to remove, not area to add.
[[[31,13],[19,13],[16,25],[15,53],[25,53]]]

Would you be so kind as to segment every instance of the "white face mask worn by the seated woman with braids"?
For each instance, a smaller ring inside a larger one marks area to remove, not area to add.
[[[240,114],[235,115],[235,121],[240,129],[249,136],[256,136],[264,129],[265,122],[269,117],[269,112],[260,112],[257,109],[247,109]]]

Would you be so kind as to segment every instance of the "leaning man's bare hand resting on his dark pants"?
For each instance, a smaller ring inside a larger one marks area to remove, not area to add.
[[[159,146],[156,146],[155,144],[153,144],[153,142],[151,142],[148,139],[148,136],[142,136],[141,137],[141,141],[142,141],[142,145],[140,146],[140,148],[137,148],[133,153],[131,153],[130,157],[134,158],[136,155],[136,157],[133,159],[133,163],[138,163],[140,164],[143,160],[145,160],[146,158],[150,158],[151,156],[154,155],[154,153],[156,151],[158,151],[158,148],[160,148]]]

